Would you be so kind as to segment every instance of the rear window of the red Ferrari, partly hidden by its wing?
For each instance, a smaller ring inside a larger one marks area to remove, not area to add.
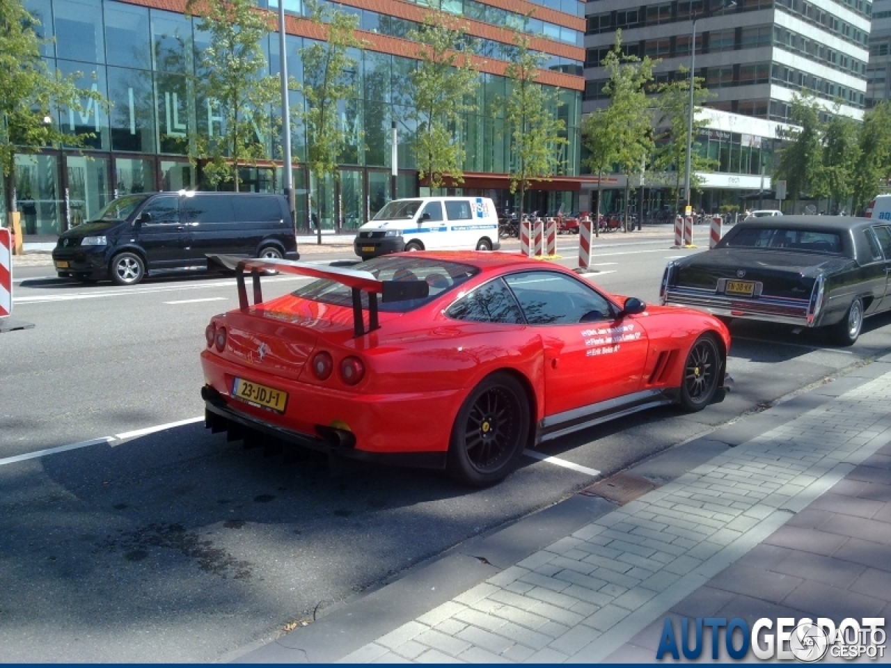
[[[429,295],[423,299],[408,299],[399,302],[382,304],[378,302],[380,311],[405,313],[413,308],[427,304],[432,299],[449,290],[455,289],[464,281],[478,273],[476,267],[462,265],[457,262],[444,262],[422,257],[375,257],[367,262],[359,263],[351,269],[371,272],[379,281],[427,281]],[[313,281],[302,288],[294,290],[294,297],[312,299],[324,304],[340,306],[353,305],[353,292],[346,285],[336,281],[323,279]],[[362,293],[362,305],[368,308],[368,295]]]

